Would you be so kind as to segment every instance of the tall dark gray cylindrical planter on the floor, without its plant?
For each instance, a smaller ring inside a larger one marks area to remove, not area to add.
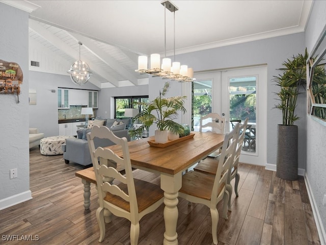
[[[276,176],[297,180],[297,126],[278,125]]]

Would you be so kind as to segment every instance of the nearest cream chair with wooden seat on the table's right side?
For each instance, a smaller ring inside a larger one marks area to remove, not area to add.
[[[200,171],[188,171],[182,176],[182,186],[179,190],[179,197],[191,203],[204,204],[210,208],[214,244],[218,244],[219,211],[216,205],[222,200],[224,201],[222,217],[227,219],[227,204],[229,200],[227,180],[230,165],[233,162],[232,154],[236,143],[232,139],[236,136],[237,131],[238,125],[225,135],[220,164],[217,164],[218,167],[216,168],[215,175]]]

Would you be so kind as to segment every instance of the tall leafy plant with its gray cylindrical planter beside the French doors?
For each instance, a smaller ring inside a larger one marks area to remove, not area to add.
[[[297,179],[297,142],[298,129],[294,122],[300,117],[295,114],[296,100],[301,88],[307,83],[305,55],[298,54],[283,62],[285,68],[280,68],[283,74],[274,76],[273,81],[280,86],[278,95],[279,103],[275,108],[282,110],[282,124],[278,125],[278,148],[277,148],[277,176],[285,180]]]

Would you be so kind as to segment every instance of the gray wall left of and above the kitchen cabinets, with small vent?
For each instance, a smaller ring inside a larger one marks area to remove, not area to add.
[[[30,71],[29,76],[29,88],[36,89],[36,105],[29,106],[30,128],[38,128],[39,132],[45,134],[45,137],[59,134],[58,87],[94,90],[99,89],[90,82],[86,83],[85,85],[78,86],[70,80],[69,76],[38,71]],[[55,89],[56,92],[52,93],[52,89]]]

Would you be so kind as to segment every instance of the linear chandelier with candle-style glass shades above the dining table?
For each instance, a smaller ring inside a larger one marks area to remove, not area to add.
[[[162,59],[160,65],[160,55],[151,54],[151,64],[148,68],[147,56],[138,57],[138,70],[135,70],[141,74],[149,74],[154,77],[161,77],[163,79],[170,79],[172,81],[179,82],[192,82],[194,79],[193,68],[188,68],[187,65],[180,65],[180,62],[175,61],[175,11],[179,10],[171,1],[162,1],[161,4],[164,8],[164,38],[165,38],[165,58]],[[174,62],[171,66],[171,59],[167,58],[167,35],[166,35],[166,9],[173,12],[174,15]]]

